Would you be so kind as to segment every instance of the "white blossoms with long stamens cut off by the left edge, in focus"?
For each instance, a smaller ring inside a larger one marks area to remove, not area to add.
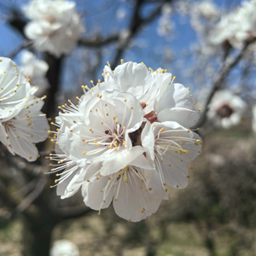
[[[38,158],[35,143],[44,141],[49,130],[40,111],[44,97],[33,96],[37,89],[22,76],[14,61],[0,57],[0,141],[12,154],[28,161]]]

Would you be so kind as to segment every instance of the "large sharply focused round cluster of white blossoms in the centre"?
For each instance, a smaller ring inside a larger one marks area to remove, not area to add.
[[[119,217],[136,222],[168,199],[167,187],[187,186],[189,162],[201,153],[190,130],[199,114],[189,88],[161,68],[122,61],[102,76],[82,86],[78,105],[59,107],[50,173],[62,199],[82,187],[86,206],[100,214],[113,201]]]

